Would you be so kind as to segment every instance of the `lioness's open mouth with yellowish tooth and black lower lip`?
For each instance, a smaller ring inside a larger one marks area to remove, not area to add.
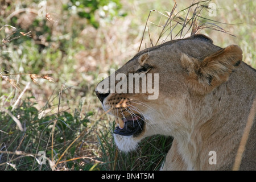
[[[144,119],[142,115],[131,115],[125,118],[116,118],[115,123],[117,123],[117,127],[115,127],[114,134],[130,136],[130,135],[138,135],[142,132],[144,127]]]

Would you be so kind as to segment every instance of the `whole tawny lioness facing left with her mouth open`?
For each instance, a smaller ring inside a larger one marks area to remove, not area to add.
[[[174,140],[163,170],[230,170],[250,114],[254,122],[240,169],[256,169],[256,71],[242,61],[240,47],[221,48],[205,35],[193,35],[144,49],[110,75],[114,86],[128,88],[123,77],[120,86],[119,73],[138,73],[141,80],[153,76],[151,84],[159,89],[158,97],[149,99],[152,92],[142,92],[142,81],[133,93],[110,92],[111,84],[102,88],[102,82],[97,86],[104,110],[117,118],[114,140],[120,150],[167,135]]]

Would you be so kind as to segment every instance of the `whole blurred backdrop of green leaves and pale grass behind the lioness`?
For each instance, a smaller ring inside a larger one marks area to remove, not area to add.
[[[147,138],[131,154],[117,151],[114,119],[102,110],[94,88],[99,73],[109,73],[137,53],[150,10],[171,12],[174,1],[54,0],[46,1],[47,14],[39,16],[41,2],[0,2],[0,73],[19,86],[15,89],[1,78],[0,169],[52,169],[48,160],[40,165],[32,157],[38,157],[39,151],[55,163],[64,154],[56,166],[63,170],[159,169],[171,138]],[[176,2],[176,13],[192,3]],[[221,47],[238,44],[243,60],[255,68],[256,2],[212,2],[217,16],[210,17],[207,10],[202,16],[225,23],[211,22],[236,37],[207,28],[200,33]],[[154,11],[149,20],[163,26],[164,17]],[[154,41],[162,30],[155,24],[148,24]],[[150,44],[146,30],[141,49]],[[35,84],[30,75],[8,75],[12,73],[49,75],[55,82],[38,79]]]

